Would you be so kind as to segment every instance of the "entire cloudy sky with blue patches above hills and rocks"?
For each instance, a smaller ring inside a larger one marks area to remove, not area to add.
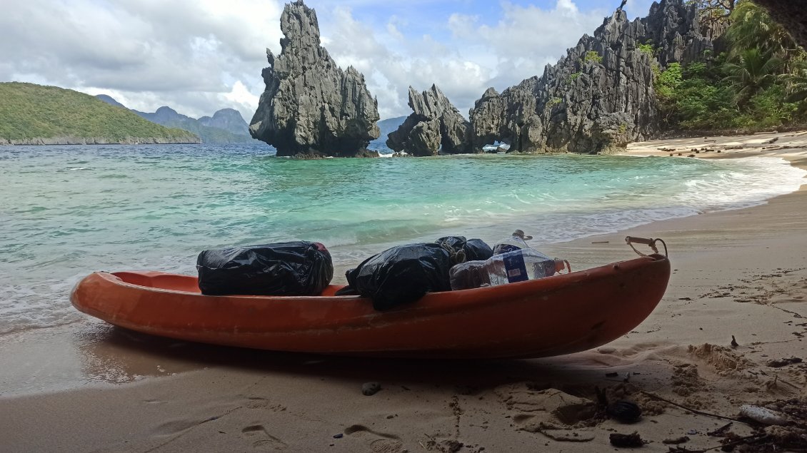
[[[234,108],[249,123],[280,52],[277,0],[0,0],[0,81],[108,94],[193,118]],[[381,118],[437,85],[460,112],[488,87],[540,76],[620,1],[306,0],[322,45],[363,73]],[[628,0],[630,19],[650,0]],[[2,100],[0,100],[2,102]]]

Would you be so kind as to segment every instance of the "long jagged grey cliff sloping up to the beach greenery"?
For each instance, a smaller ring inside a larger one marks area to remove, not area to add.
[[[501,141],[511,151],[596,153],[658,135],[653,65],[685,63],[713,46],[696,12],[662,0],[629,22],[618,9],[543,76],[501,94],[487,89],[470,111],[473,148]]]

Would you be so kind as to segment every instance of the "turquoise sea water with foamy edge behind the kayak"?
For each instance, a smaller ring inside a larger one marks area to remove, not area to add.
[[[441,156],[289,160],[263,143],[0,147],[0,334],[82,319],[95,270],[193,274],[211,247],[324,243],[337,264],[449,234],[558,243],[792,192],[784,160]]]

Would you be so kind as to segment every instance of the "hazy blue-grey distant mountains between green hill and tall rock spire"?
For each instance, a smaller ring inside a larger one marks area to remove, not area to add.
[[[106,94],[98,94],[96,98],[113,106],[126,108]],[[222,109],[215,112],[212,117],[203,116],[199,119],[179,114],[168,106],[162,106],[154,113],[134,109],[132,111],[152,123],[167,127],[178,127],[179,129],[193,132],[201,137],[203,143],[249,143],[253,141],[244,118],[241,117],[237,110],[233,109]]]

